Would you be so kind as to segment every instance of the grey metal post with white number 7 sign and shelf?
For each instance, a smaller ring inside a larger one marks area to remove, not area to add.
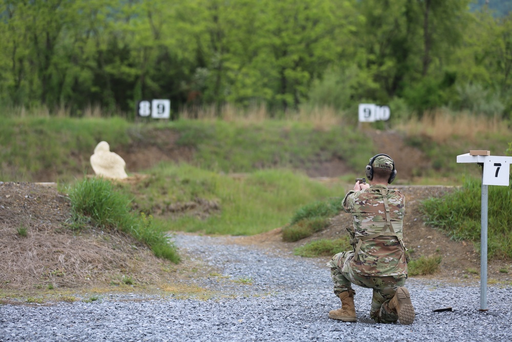
[[[490,151],[470,151],[457,156],[457,163],[482,166],[482,204],[480,231],[480,311],[487,310],[487,199],[489,185],[508,186],[512,157],[492,156]]]

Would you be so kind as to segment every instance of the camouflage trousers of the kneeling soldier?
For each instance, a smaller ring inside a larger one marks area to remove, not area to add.
[[[348,272],[343,272],[344,264],[349,263],[353,257],[353,251],[342,252],[334,255],[327,263],[331,268],[334,294],[338,297],[340,293],[352,289],[352,284],[373,289],[370,317],[377,323],[395,323],[398,315],[388,309],[388,303],[395,296],[396,288],[404,285],[406,276],[367,276],[355,273],[352,267],[346,268]]]

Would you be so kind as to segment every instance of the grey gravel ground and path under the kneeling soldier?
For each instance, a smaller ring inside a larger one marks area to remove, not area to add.
[[[182,253],[215,275],[196,279],[206,301],[104,295],[92,303],[0,306],[0,341],[508,341],[512,289],[410,278],[412,325],[375,324],[371,290],[356,289],[357,323],[327,317],[339,307],[327,267],[290,253],[229,243],[229,237],[177,235]],[[226,244],[227,243],[227,244]],[[452,307],[453,311],[433,312]]]

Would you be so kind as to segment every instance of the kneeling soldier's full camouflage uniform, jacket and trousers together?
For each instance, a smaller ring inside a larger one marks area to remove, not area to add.
[[[387,196],[388,219],[383,196]],[[347,229],[354,250],[338,253],[327,263],[336,296],[351,289],[351,284],[373,289],[370,316],[377,323],[398,320],[398,315],[389,310],[387,304],[407,278],[406,249],[402,240],[404,206],[403,194],[385,185],[349,191],[343,208],[353,216],[353,229]]]

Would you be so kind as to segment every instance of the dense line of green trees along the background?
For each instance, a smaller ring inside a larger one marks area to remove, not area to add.
[[[512,13],[470,0],[4,0],[0,106],[512,110]]]

